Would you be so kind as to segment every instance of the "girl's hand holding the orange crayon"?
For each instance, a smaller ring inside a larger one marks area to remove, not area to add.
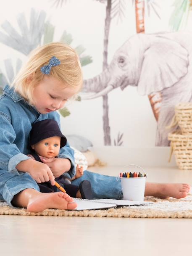
[[[37,183],[50,180],[51,185],[55,185],[55,178],[47,164],[40,163],[33,159],[29,159],[21,161],[16,166],[16,169],[21,172],[29,172],[29,174]]]

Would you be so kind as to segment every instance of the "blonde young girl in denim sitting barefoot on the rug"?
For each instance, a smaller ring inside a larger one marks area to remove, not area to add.
[[[36,49],[16,76],[11,87],[5,86],[0,97],[0,199],[28,211],[46,208],[74,209],[73,198],[63,192],[40,193],[37,182],[49,181],[63,171],[69,179],[75,175],[74,150],[68,143],[58,158],[40,163],[26,156],[32,124],[54,119],[60,124],[58,109],[82,87],[82,71],[76,52],[68,45],[50,43]],[[122,198],[121,182],[116,177],[88,171],[72,181],[91,182],[94,198]],[[183,198],[187,184],[147,183],[145,195]]]

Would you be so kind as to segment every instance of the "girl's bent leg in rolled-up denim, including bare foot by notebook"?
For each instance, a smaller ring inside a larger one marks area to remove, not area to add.
[[[73,199],[66,193],[40,193],[39,186],[28,173],[18,175],[4,170],[0,170],[0,199],[9,205],[27,207],[28,211],[76,208],[76,203],[71,203]]]

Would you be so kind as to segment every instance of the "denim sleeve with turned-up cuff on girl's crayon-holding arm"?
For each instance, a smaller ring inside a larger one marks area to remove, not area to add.
[[[0,112],[0,168],[20,175],[22,173],[17,171],[16,165],[30,158],[22,154],[14,144],[15,138],[10,117]]]

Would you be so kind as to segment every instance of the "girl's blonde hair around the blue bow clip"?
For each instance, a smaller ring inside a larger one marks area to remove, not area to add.
[[[60,60],[60,65],[53,66],[49,76],[55,77],[68,86],[77,88],[77,92],[82,88],[81,64],[75,50],[60,42],[43,45],[30,53],[28,61],[18,72],[11,85],[30,104],[34,102],[34,87],[45,76],[40,69],[47,65],[53,56]]]

